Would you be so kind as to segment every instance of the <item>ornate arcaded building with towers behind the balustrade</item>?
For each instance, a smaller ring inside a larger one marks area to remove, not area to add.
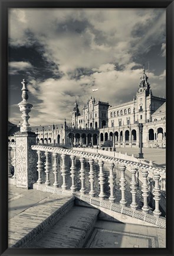
[[[166,147],[166,100],[155,97],[143,69],[133,100],[111,107],[91,97],[80,114],[75,99],[71,123],[31,127],[41,144],[71,146],[139,147],[140,125],[144,148]],[[19,129],[9,124],[9,140]]]

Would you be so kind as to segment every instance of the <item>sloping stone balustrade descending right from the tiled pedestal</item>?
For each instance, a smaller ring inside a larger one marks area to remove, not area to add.
[[[136,219],[139,220],[145,220],[146,222],[153,223],[153,225],[165,227],[165,218],[160,217],[161,212],[159,210],[159,201],[160,201],[160,188],[159,188],[159,180],[160,180],[160,172],[153,170],[153,180],[155,181],[155,187],[153,189],[153,196],[155,200],[155,210],[150,210],[150,207],[147,204],[147,197],[149,197],[149,180],[147,176],[149,175],[149,169],[150,167],[147,165],[141,165],[134,162],[129,161],[120,161],[120,159],[111,158],[107,156],[102,155],[96,155],[93,153],[87,153],[87,152],[80,152],[70,149],[62,149],[62,148],[54,148],[49,146],[39,146],[34,145],[31,146],[32,150],[37,151],[38,154],[38,162],[37,162],[37,171],[38,171],[38,181],[33,185],[33,188],[36,188],[38,190],[47,191],[51,193],[59,193],[59,194],[72,194],[73,196],[77,197],[77,199],[86,201],[87,203],[90,203],[94,206],[98,207],[105,207],[107,209],[113,209],[115,212],[119,212],[125,215],[129,215],[132,217],[136,217]],[[45,161],[45,174],[46,178],[45,181],[42,180],[42,172],[43,172],[43,163],[41,160],[42,153],[45,153],[46,161]],[[50,166],[49,161],[49,154],[52,153],[52,167]],[[63,180],[63,184],[61,185],[61,188],[59,188],[58,184],[58,164],[57,164],[57,156],[58,154],[61,155],[61,176]],[[69,155],[71,159],[71,187],[68,190],[67,189],[67,167],[65,164],[65,156]],[[75,157],[80,158],[80,183],[81,183],[81,189],[77,191],[77,187],[75,182]],[[84,187],[84,162],[85,160],[88,161],[90,164],[90,171],[89,171],[89,183],[90,183],[90,191],[87,194],[86,188]],[[93,165],[94,162],[97,162],[99,164],[100,172],[99,172],[99,184],[100,184],[100,194],[97,195],[96,191],[94,189],[94,170]],[[109,199],[106,199],[106,196],[104,195],[104,174],[103,174],[103,165],[108,164],[109,165],[109,191],[110,196]],[[114,173],[114,167],[119,169],[121,173],[120,178],[120,191],[122,194],[122,199],[120,202],[116,202],[116,194],[114,191],[114,183],[115,183],[115,173]],[[130,206],[126,206],[126,175],[125,170],[126,168],[130,169],[130,172],[132,173],[132,181],[130,183],[130,188],[132,193],[132,203]],[[50,182],[50,172],[54,174],[54,183],[51,184]],[[143,198],[143,207],[141,210],[137,209],[137,203],[136,203],[136,194],[137,194],[137,183],[136,183],[136,174],[137,172],[142,175],[142,198]],[[148,214],[147,214],[148,213]],[[160,217],[160,218],[159,218]]]

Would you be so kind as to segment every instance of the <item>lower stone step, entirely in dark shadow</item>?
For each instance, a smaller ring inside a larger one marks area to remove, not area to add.
[[[29,248],[82,248],[97,220],[99,210],[74,206]]]

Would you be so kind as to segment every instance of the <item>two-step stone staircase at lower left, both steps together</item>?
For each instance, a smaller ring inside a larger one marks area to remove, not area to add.
[[[11,248],[81,248],[98,209],[75,206],[72,196],[51,194],[9,220]]]

